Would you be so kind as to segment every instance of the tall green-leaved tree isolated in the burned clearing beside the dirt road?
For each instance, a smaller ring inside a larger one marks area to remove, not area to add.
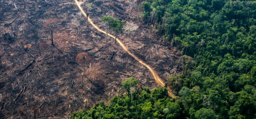
[[[115,43],[117,43],[117,33],[120,32],[122,33],[124,22],[120,21],[116,18],[113,18],[111,16],[104,16],[101,18],[101,20],[109,25],[109,27],[115,31]]]

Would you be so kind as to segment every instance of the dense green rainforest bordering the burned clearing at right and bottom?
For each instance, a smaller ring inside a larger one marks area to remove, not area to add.
[[[143,22],[182,54],[182,74],[167,82],[177,97],[170,99],[166,88],[136,88],[129,78],[126,95],[75,118],[256,119],[256,1],[147,0],[138,6]]]

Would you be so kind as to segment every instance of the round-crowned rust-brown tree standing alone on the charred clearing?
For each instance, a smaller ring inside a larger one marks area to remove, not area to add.
[[[84,74],[85,74],[85,66],[89,65],[92,61],[92,57],[89,56],[86,52],[78,53],[75,57],[75,62],[81,64],[84,68]]]

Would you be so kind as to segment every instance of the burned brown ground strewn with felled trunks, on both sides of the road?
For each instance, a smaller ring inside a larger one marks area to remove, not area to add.
[[[137,24],[134,33],[118,35],[125,46],[161,78],[166,80],[170,74],[179,73],[175,52],[154,36],[150,25],[136,17],[136,1],[81,3],[101,29],[106,27],[100,21],[105,15]],[[141,86],[158,86],[148,69],[114,39],[90,24],[86,27],[86,18],[72,0],[0,1],[0,15],[0,118],[69,117],[70,111],[88,108],[120,93],[121,82],[128,77],[138,79]],[[85,74],[75,62],[80,52],[92,57]]]

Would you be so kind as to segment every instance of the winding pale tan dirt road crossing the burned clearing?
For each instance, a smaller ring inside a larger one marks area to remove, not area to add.
[[[78,6],[79,10],[84,14],[85,17],[87,17],[87,14],[85,13],[85,11],[83,10],[83,8],[81,7],[81,5],[78,3],[77,0],[74,0],[76,5]],[[98,28],[92,21],[91,18],[88,17],[88,22],[92,24],[92,26],[97,29],[98,31],[106,34],[105,31],[101,30],[100,28]],[[108,36],[112,37],[115,39],[115,36],[111,35],[111,34],[107,34]],[[134,59],[136,59],[140,64],[144,65],[145,67],[147,67],[150,72],[152,73],[155,81],[157,82],[157,84],[161,85],[162,87],[165,86],[165,83],[164,81],[158,76],[158,74],[156,73],[156,71],[154,71],[148,64],[146,64],[145,62],[143,62],[141,59],[139,59],[137,56],[135,56],[133,53],[131,53],[125,46],[124,44],[117,38],[117,42],[119,43],[119,45],[127,52],[129,53]],[[170,97],[175,97],[175,95],[171,92],[171,89],[169,87],[167,87],[169,90],[168,90],[168,95]]]

